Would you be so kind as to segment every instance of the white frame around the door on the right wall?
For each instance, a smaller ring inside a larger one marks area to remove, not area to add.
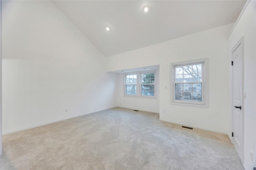
[[[232,59],[232,53],[237,49],[237,47],[241,45],[242,47],[242,94],[243,94],[243,97],[242,97],[242,106],[244,108],[244,36],[242,36],[238,42],[236,43],[236,45],[234,45],[234,47],[232,48],[231,50],[231,53],[230,53],[230,63],[233,61]],[[233,104],[233,66],[231,66],[231,130],[232,132],[234,131],[234,125],[233,125],[233,114],[234,114],[234,111],[233,111],[233,108],[234,108],[234,104]],[[241,162],[242,162],[242,165],[244,164],[244,109],[242,109],[242,132],[243,132],[243,135],[242,135],[242,158],[241,158]],[[233,140],[234,140],[234,137],[231,138],[231,143],[233,144]]]

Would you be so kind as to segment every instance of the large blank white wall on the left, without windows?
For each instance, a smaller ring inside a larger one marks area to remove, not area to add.
[[[3,133],[116,106],[117,74],[51,1],[3,1],[2,26]]]

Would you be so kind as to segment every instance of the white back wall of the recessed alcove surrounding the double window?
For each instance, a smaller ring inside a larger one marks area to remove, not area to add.
[[[156,76],[156,88],[159,91],[159,70],[157,70]],[[156,94],[156,98],[150,99],[124,96],[124,74],[122,73],[118,74],[117,99],[117,105],[119,107],[159,113],[159,93]]]

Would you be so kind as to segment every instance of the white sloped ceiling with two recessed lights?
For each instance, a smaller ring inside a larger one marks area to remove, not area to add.
[[[234,23],[246,0],[53,2],[108,57]],[[145,14],[146,5],[150,11]]]

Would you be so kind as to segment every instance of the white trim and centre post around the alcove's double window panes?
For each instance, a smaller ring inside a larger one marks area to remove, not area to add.
[[[142,85],[142,81],[141,81],[141,74],[145,74],[145,73],[154,73],[155,74],[155,80],[154,80],[154,92],[155,92],[155,96],[142,96],[141,95],[141,85]],[[136,84],[136,95],[128,95],[126,94],[126,75],[132,75],[132,74],[137,74],[137,84]],[[157,99],[157,79],[158,79],[158,74],[157,74],[157,70],[147,70],[147,71],[138,71],[138,72],[126,72],[124,73],[124,97],[128,97],[128,98],[146,98],[146,99]]]

